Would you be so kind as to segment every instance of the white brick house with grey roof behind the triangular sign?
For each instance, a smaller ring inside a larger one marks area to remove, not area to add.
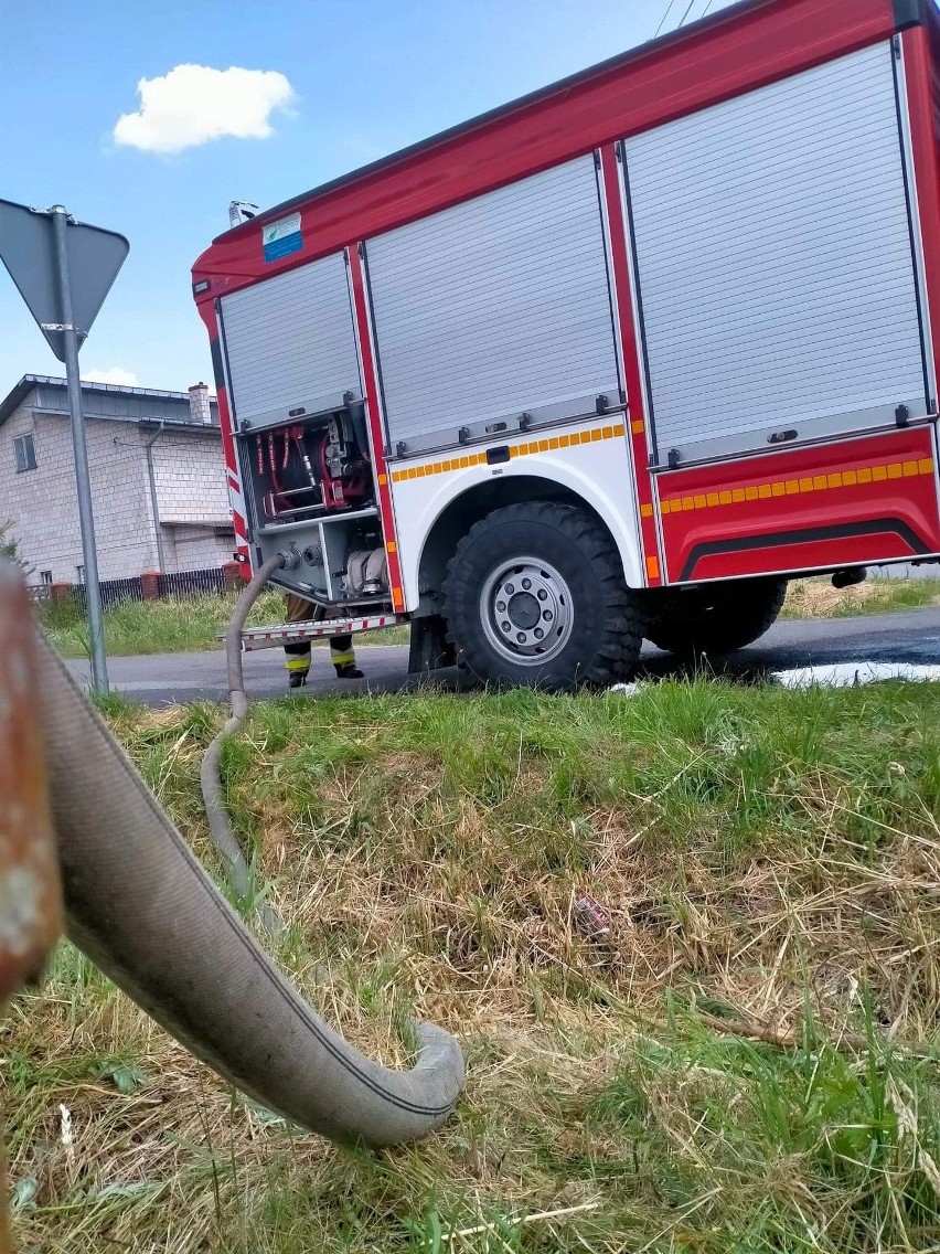
[[[81,384],[102,579],[217,568],[234,548],[218,410],[189,393]],[[33,582],[81,582],[64,379],[24,375],[0,401],[0,524]]]

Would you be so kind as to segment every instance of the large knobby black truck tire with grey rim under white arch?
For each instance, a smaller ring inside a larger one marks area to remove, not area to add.
[[[478,680],[549,692],[619,678],[643,643],[610,535],[555,502],[505,505],[470,529],[447,564],[444,617]]]

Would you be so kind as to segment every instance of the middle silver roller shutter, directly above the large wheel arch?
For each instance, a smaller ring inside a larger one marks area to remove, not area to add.
[[[367,262],[392,445],[615,401],[593,157],[370,240]]]

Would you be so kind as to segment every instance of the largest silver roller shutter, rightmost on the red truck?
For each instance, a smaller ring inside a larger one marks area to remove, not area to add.
[[[926,413],[892,56],[625,142],[661,461]]]

